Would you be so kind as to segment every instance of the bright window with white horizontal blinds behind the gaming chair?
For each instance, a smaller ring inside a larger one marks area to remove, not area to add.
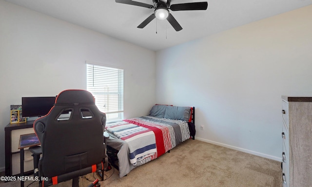
[[[87,90],[108,121],[123,119],[123,70],[87,64]]]

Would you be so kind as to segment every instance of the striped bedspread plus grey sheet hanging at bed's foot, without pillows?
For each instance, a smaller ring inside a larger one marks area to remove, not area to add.
[[[118,150],[119,177],[190,138],[190,122],[142,116],[107,123],[107,145]],[[194,125],[194,124],[193,124]]]

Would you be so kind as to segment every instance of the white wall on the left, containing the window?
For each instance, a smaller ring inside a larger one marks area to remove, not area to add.
[[[0,0],[0,171],[4,170],[4,127],[10,123],[10,105],[21,104],[22,96],[86,89],[88,60],[124,69],[124,117],[146,115],[156,102],[155,55]]]

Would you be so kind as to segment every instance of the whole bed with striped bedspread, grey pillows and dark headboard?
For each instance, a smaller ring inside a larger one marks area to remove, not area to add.
[[[110,163],[119,177],[170,152],[181,142],[195,139],[195,107],[154,105],[148,116],[107,123]]]

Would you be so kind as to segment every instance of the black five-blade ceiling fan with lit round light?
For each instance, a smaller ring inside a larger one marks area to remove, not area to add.
[[[123,4],[130,4],[146,8],[155,8],[154,13],[137,26],[137,28],[140,29],[144,28],[149,22],[157,18],[160,20],[167,19],[176,31],[180,31],[182,30],[182,27],[172,16],[172,14],[169,13],[169,9],[172,11],[207,10],[208,7],[208,2],[189,2],[170,5],[171,0],[153,0],[154,5],[150,5],[147,3],[137,2],[133,0],[115,0],[115,1]]]

